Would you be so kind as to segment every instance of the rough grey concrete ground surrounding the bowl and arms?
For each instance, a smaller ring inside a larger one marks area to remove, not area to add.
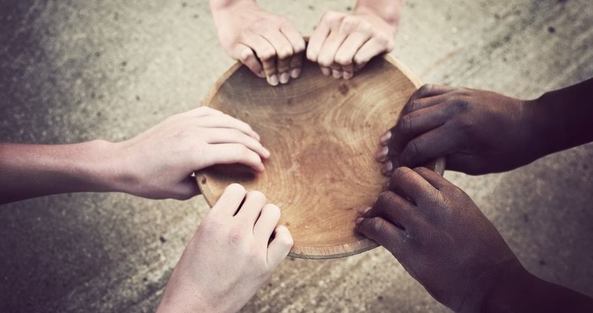
[[[310,34],[354,0],[260,1]],[[207,1],[0,1],[0,140],[122,140],[194,108],[233,62]],[[593,76],[588,0],[411,1],[393,54],[425,82],[539,96]],[[446,173],[527,269],[593,296],[593,145]],[[1,175],[1,173],[0,173]],[[0,207],[0,312],[152,312],[201,196],[63,194]],[[453,252],[451,252],[453,253]],[[243,312],[448,312],[382,248],[287,259]]]

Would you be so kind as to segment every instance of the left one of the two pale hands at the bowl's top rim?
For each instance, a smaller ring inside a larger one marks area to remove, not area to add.
[[[286,17],[267,13],[253,0],[219,2],[211,0],[212,15],[230,57],[273,86],[299,77],[305,41]]]

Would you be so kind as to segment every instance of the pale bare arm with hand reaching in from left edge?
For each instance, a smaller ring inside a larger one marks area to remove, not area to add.
[[[0,144],[0,204],[80,191],[187,199],[200,193],[195,170],[243,163],[261,172],[269,155],[248,124],[200,107],[120,143]]]

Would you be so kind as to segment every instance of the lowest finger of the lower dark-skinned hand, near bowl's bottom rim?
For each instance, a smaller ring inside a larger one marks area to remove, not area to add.
[[[382,217],[359,217],[356,230],[388,249],[396,259],[405,254],[407,233]]]

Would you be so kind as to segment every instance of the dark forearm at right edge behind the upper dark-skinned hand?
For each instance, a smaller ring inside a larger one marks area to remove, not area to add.
[[[542,157],[593,141],[593,78],[528,105],[534,111],[532,138],[539,141]]]

